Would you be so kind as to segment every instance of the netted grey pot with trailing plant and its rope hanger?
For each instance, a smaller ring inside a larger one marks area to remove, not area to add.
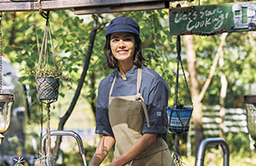
[[[68,89],[72,89],[73,79],[63,74],[65,66],[61,61],[56,63],[54,45],[49,26],[49,12],[46,14],[44,11],[41,11],[40,14],[46,19],[46,26],[44,29],[42,47],[39,53],[38,68],[37,71],[32,72],[32,74],[36,73],[38,100],[50,104],[58,100],[60,81],[64,80],[68,82]],[[48,39],[51,52],[48,50]],[[49,58],[49,53],[51,53],[52,59]],[[49,66],[50,62],[52,64],[51,66]]]

